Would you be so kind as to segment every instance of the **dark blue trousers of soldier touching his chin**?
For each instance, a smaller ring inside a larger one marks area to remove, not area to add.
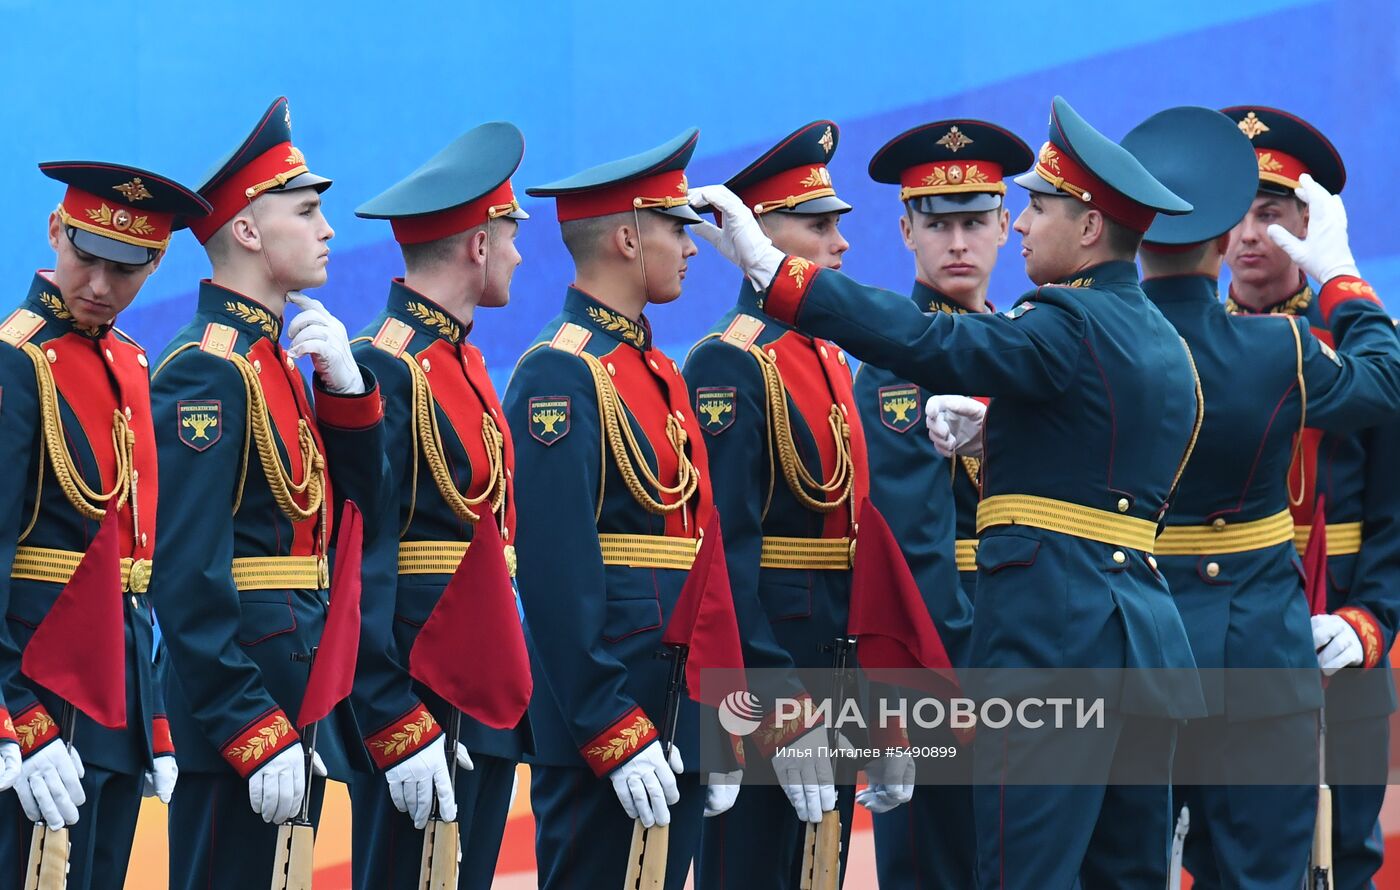
[[[321,821],[326,781],[311,782],[311,824]],[[272,882],[277,826],[248,803],[237,772],[181,774],[169,812],[169,890],[248,890]]]

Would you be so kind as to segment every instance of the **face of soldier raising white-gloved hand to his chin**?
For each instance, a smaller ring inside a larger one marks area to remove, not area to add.
[[[252,218],[279,287],[300,291],[326,283],[328,242],[336,232],[321,213],[315,189],[265,192],[253,200]]]

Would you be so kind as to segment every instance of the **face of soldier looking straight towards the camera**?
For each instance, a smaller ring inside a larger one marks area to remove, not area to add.
[[[918,278],[949,297],[977,292],[1007,243],[1011,214],[1005,209],[976,213],[920,213],[899,218],[904,246],[914,252]]]

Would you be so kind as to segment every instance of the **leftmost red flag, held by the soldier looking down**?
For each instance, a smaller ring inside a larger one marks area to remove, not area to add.
[[[126,728],[126,616],[118,511],[24,648],[20,670],[108,729]]]

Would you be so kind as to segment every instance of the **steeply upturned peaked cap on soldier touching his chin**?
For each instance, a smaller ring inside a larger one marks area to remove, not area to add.
[[[192,221],[189,229],[199,243],[206,243],[265,192],[329,188],[330,181],[312,174],[301,150],[291,144],[291,109],[287,97],[281,97],[267,106],[252,133],[204,176],[199,193],[213,210]]]

